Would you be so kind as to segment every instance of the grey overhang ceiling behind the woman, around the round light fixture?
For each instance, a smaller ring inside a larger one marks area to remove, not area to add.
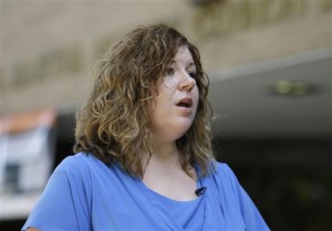
[[[332,138],[332,49],[210,73],[216,136]],[[305,84],[308,94],[280,95],[280,81]]]

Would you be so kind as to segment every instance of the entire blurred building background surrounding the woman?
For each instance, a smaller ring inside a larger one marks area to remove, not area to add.
[[[201,52],[214,147],[272,230],[332,229],[332,0],[0,0],[0,230],[72,154],[97,59],[138,24]]]

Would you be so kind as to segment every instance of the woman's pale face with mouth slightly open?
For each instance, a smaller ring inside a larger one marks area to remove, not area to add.
[[[155,140],[174,141],[190,128],[199,98],[195,77],[193,56],[180,46],[157,84],[149,124]]]

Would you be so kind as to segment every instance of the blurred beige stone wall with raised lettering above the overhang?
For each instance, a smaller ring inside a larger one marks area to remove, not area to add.
[[[177,27],[207,73],[331,46],[331,0],[1,1],[0,115],[74,111],[98,55],[137,24]]]

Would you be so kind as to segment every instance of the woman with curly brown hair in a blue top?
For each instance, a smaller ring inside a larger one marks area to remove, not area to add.
[[[212,156],[197,48],[139,27],[100,61],[74,156],[52,174],[23,230],[268,230]]]

